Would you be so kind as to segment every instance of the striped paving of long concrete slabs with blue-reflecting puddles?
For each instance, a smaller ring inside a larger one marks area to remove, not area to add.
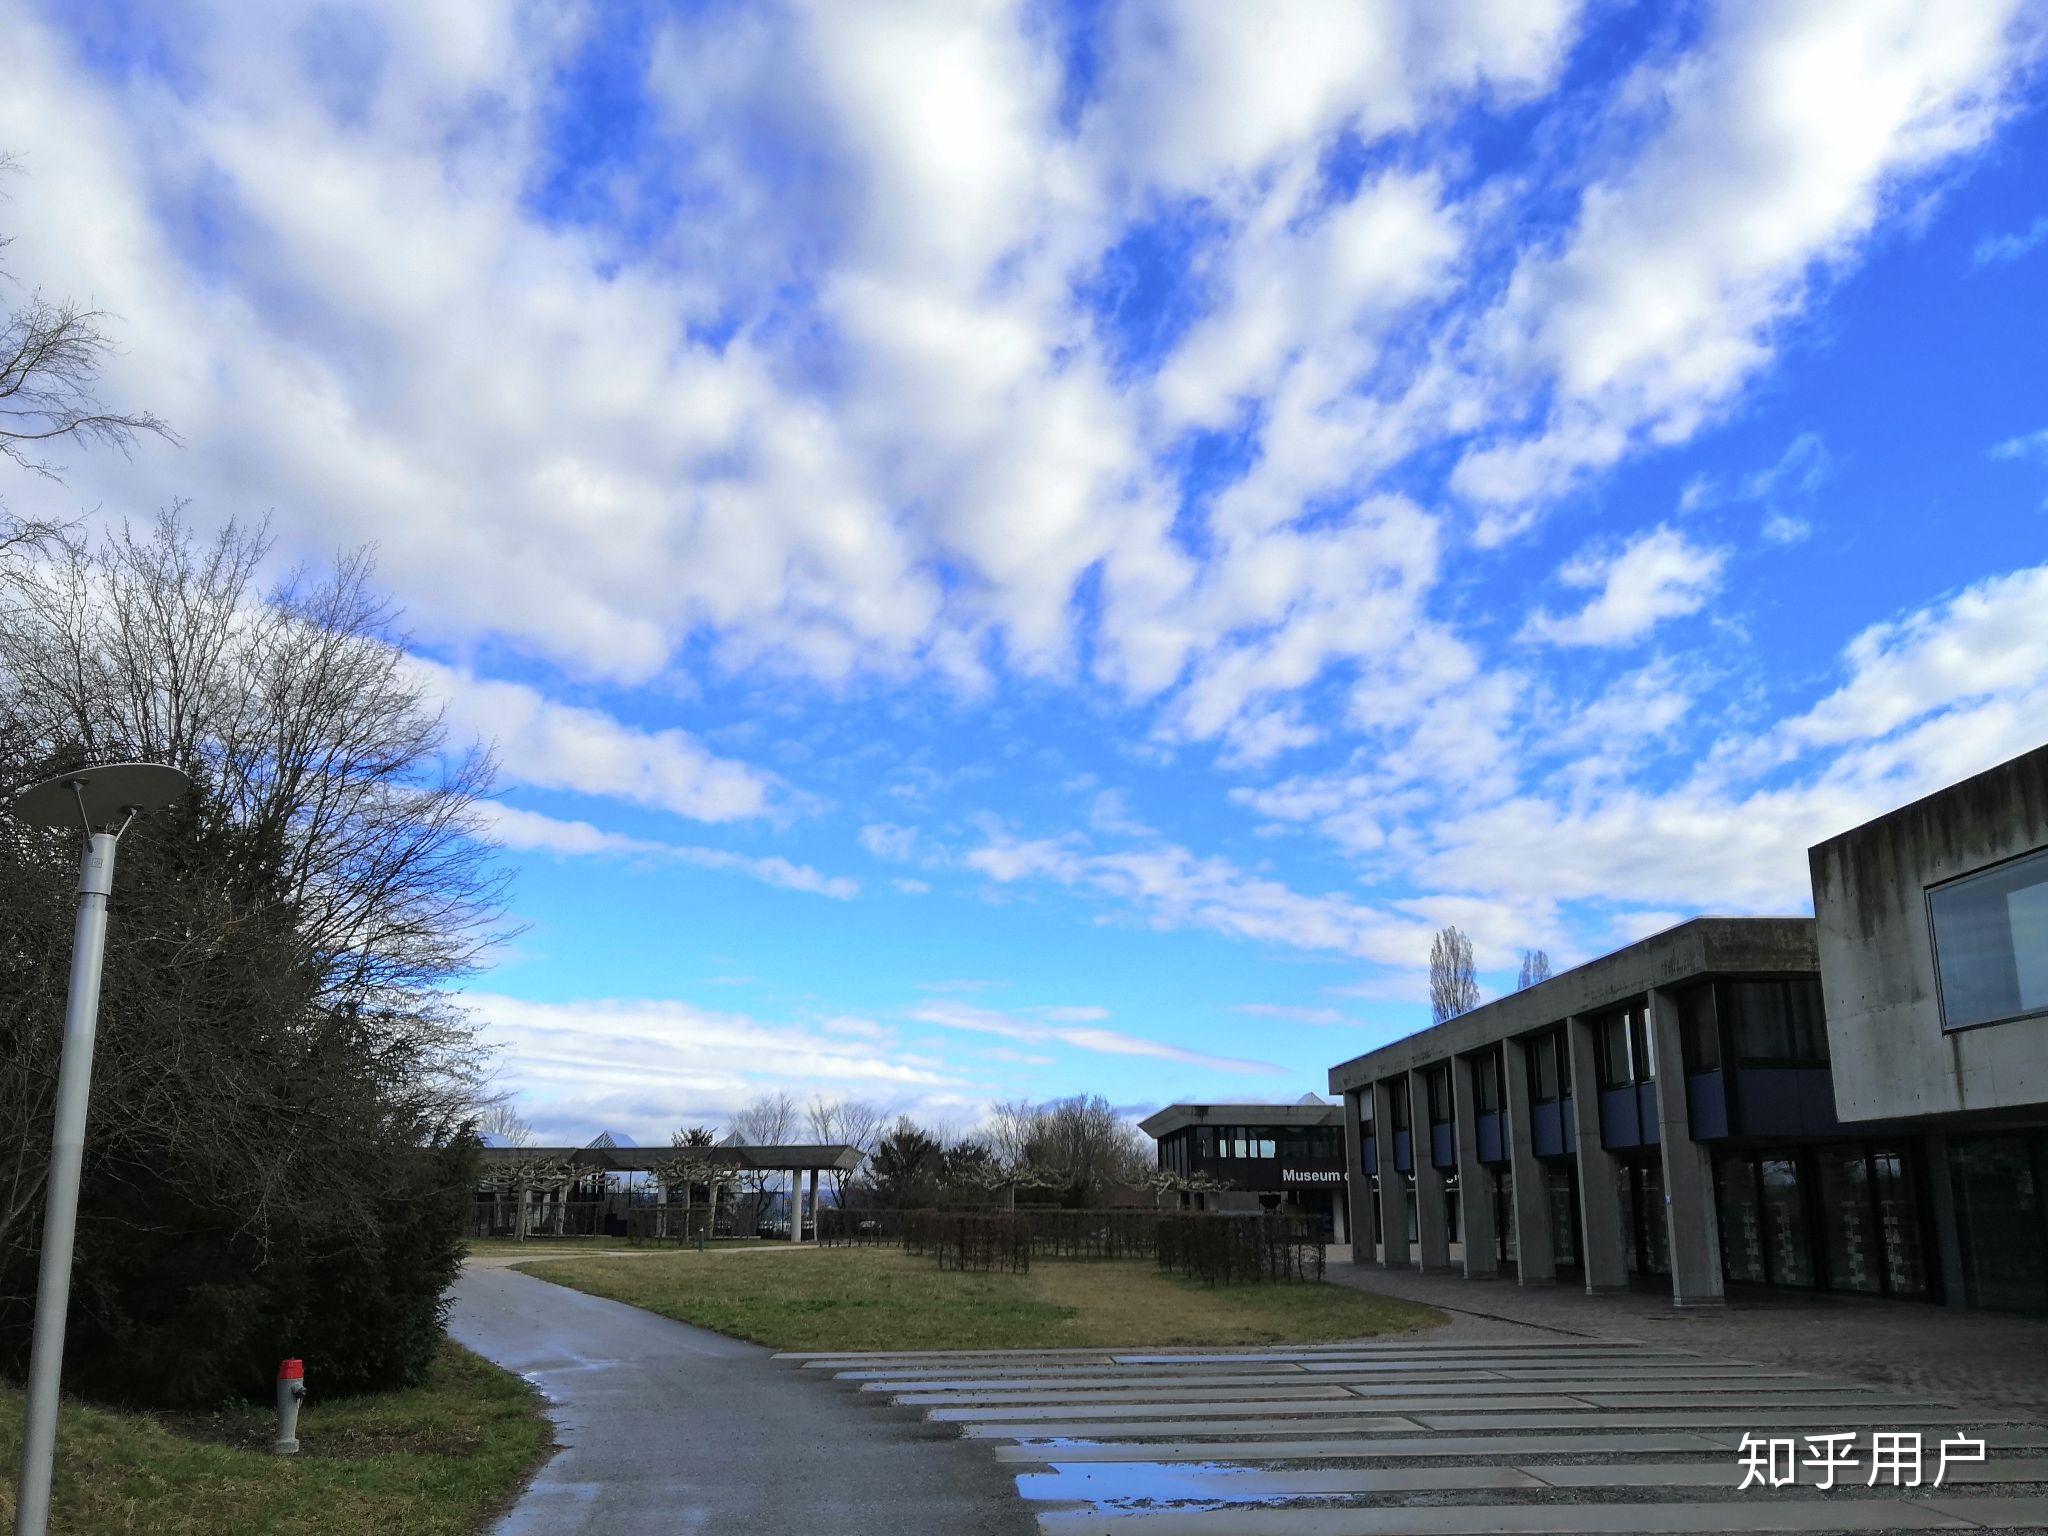
[[[793,1354],[1016,1475],[1042,1536],[2048,1530],[2048,1425],[1665,1343],[1526,1329],[1268,1350]],[[831,1391],[838,1386],[838,1391]],[[1870,1487],[1874,1432],[1985,1460]],[[1796,1481],[1739,1489],[1745,1434]],[[1823,1489],[1806,1436],[1853,1436]],[[930,1530],[944,1530],[932,1522]]]

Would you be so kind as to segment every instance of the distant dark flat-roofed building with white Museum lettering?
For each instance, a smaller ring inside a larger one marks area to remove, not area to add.
[[[1159,1167],[1206,1176],[1196,1210],[1276,1210],[1323,1219],[1331,1243],[1350,1243],[1343,1108],[1303,1104],[1167,1104],[1139,1122],[1159,1143]]]

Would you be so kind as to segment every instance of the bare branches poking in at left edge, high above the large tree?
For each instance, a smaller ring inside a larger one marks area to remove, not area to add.
[[[0,174],[12,170],[18,162],[0,156]],[[0,236],[0,250],[10,244]],[[100,399],[100,373],[115,356],[109,319],[104,309],[41,293],[0,313],[0,459],[57,479],[59,465],[43,451],[66,438],[117,453],[129,453],[143,432],[178,440],[164,418]]]

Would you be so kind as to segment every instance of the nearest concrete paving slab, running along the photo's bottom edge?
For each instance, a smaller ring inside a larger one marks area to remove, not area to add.
[[[1946,1501],[1944,1501],[1946,1503]],[[1968,1503],[1968,1501],[1958,1501]],[[2011,1503],[2025,1503],[2013,1499]],[[2017,1530],[2038,1530],[2038,1516],[2013,1511]],[[1905,1499],[1743,1499],[1718,1503],[1550,1503],[1550,1505],[1382,1505],[1376,1509],[1096,1509],[1038,1516],[1044,1536],[1620,1536],[1649,1532],[1894,1532],[1978,1530],[1972,1516]]]

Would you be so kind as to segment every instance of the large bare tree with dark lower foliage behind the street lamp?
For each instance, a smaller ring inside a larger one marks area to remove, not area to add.
[[[416,1262],[383,1249],[408,1221],[436,1225],[414,1253],[453,1274],[479,1178],[463,1126],[483,1055],[446,983],[502,932],[489,758],[446,741],[367,559],[264,590],[262,555],[260,532],[203,541],[172,512],[0,571],[0,782],[121,758],[193,778],[121,846],[78,1239],[100,1274],[88,1368],[119,1329],[160,1329],[158,1358],[180,1360],[178,1307],[203,1333],[203,1307],[248,1313],[227,1298],[313,1249],[305,1337],[383,1327],[322,1284],[375,1296]],[[76,831],[0,825],[0,1348],[33,1290],[74,889]],[[410,1337],[432,1337],[442,1278],[408,1284],[385,1315],[418,1298]],[[356,1380],[410,1350],[358,1352]]]

